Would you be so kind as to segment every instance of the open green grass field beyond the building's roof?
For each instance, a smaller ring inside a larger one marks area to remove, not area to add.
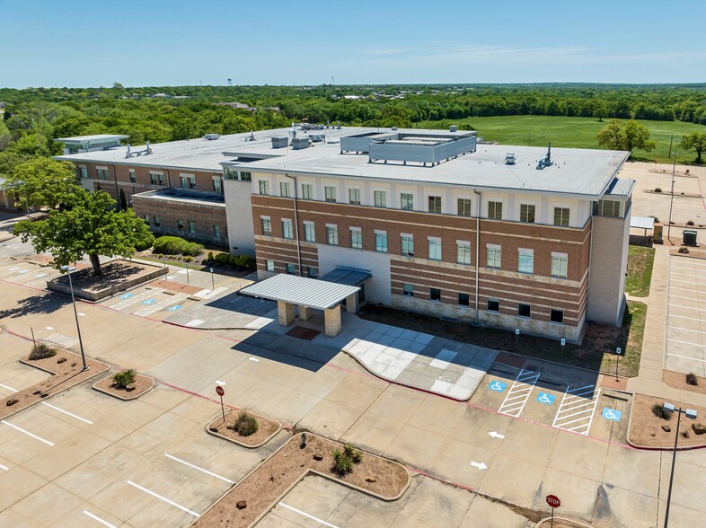
[[[533,145],[576,148],[601,148],[596,141],[596,134],[604,128],[609,119],[600,123],[594,118],[564,118],[550,116],[503,116],[499,118],[467,118],[449,119],[454,125],[471,123],[478,136],[489,141],[498,141],[503,145]],[[638,121],[640,125],[649,128],[650,139],[657,143],[657,148],[651,152],[636,150],[632,154],[635,160],[657,160],[660,163],[669,161],[669,139],[674,135],[676,145],[684,134],[691,132],[706,132],[703,125],[682,123],[681,121]],[[433,121],[422,121],[417,126],[428,128]],[[672,151],[678,149],[672,148]],[[676,163],[693,162],[695,153],[679,154]]]

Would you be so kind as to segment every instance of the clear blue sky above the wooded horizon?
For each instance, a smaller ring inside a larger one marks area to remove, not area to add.
[[[700,83],[703,0],[0,0],[0,86]]]

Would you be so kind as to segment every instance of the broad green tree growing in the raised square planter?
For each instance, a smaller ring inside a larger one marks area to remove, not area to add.
[[[151,233],[132,209],[115,211],[115,200],[108,193],[79,189],[66,204],[54,209],[46,220],[22,220],[15,224],[15,235],[30,241],[38,253],[49,251],[54,268],[67,266],[88,255],[93,275],[101,275],[99,255],[128,258],[136,245],[149,242]]]

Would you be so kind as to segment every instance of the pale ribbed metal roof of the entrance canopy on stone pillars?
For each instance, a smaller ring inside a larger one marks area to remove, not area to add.
[[[339,304],[349,295],[356,294],[358,290],[360,288],[357,286],[280,273],[252,286],[247,286],[240,292],[243,295],[261,297],[271,301],[284,301],[316,310],[327,310]]]

